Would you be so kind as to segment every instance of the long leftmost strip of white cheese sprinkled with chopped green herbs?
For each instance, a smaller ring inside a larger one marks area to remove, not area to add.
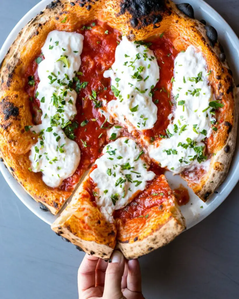
[[[29,159],[30,170],[41,171],[49,187],[58,187],[72,176],[80,161],[79,146],[62,129],[67,130],[76,115],[77,95],[70,86],[81,65],[83,39],[79,33],[54,30],[42,47],[45,59],[38,66],[36,91],[42,124],[30,128],[39,137]]]

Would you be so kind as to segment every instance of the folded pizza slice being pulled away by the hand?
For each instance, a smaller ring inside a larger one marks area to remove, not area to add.
[[[165,176],[149,170],[133,139],[121,137],[104,147],[52,229],[89,254],[107,259],[117,242],[133,258],[174,239],[185,222]]]

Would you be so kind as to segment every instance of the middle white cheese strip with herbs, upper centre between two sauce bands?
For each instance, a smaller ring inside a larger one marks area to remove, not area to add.
[[[111,116],[129,131],[132,126],[141,131],[153,128],[157,106],[152,102],[151,89],[159,80],[154,52],[123,36],[115,51],[115,62],[104,77],[111,78],[111,89],[117,97],[106,108]]]

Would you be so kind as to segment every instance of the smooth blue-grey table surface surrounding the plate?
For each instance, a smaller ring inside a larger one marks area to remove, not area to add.
[[[0,46],[38,0],[0,0]],[[207,0],[239,35],[239,1]],[[238,82],[237,82],[238,83]],[[84,256],[30,212],[0,175],[0,298],[78,298]],[[239,184],[210,216],[140,259],[146,299],[239,298]]]

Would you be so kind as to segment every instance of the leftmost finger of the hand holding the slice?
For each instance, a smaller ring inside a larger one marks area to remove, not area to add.
[[[99,258],[86,254],[78,270],[79,293],[95,286],[95,270]]]

